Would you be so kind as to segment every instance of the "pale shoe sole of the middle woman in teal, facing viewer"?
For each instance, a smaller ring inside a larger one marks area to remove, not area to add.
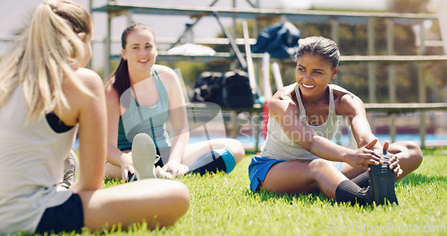
[[[156,146],[148,134],[139,133],[133,138],[132,161],[137,180],[156,179]]]

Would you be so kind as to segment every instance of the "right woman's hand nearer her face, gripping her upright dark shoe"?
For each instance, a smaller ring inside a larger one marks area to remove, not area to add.
[[[356,169],[363,169],[365,171],[371,170],[369,164],[377,165],[383,163],[382,158],[374,151],[376,143],[377,139],[374,139],[367,145],[353,150],[350,155],[346,156],[346,163]]]

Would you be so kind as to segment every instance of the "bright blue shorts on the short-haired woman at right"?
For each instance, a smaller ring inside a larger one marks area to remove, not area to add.
[[[256,192],[259,190],[259,184],[266,179],[266,175],[272,165],[284,162],[285,160],[270,159],[263,156],[251,157],[251,163],[249,164],[249,181],[250,190]],[[336,168],[342,172],[342,163],[334,162]]]

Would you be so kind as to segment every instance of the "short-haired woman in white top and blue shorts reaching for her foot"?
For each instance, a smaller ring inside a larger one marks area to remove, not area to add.
[[[250,189],[285,193],[320,190],[341,202],[382,204],[386,198],[397,203],[394,181],[417,169],[422,162],[420,148],[410,141],[381,145],[370,129],[360,98],[328,84],[340,60],[333,40],[299,39],[295,59],[296,83],[278,90],[269,102],[266,142],[260,156],[253,156],[249,164]],[[339,131],[340,116],[348,118],[358,149],[331,141]],[[382,157],[383,151],[389,159]],[[384,166],[385,174],[375,171],[377,165]],[[367,188],[369,185],[374,188]]]

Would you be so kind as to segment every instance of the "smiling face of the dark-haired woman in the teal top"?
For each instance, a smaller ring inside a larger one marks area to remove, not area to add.
[[[134,30],[126,38],[122,58],[127,61],[129,72],[150,76],[150,68],[156,63],[156,38],[150,30]]]

